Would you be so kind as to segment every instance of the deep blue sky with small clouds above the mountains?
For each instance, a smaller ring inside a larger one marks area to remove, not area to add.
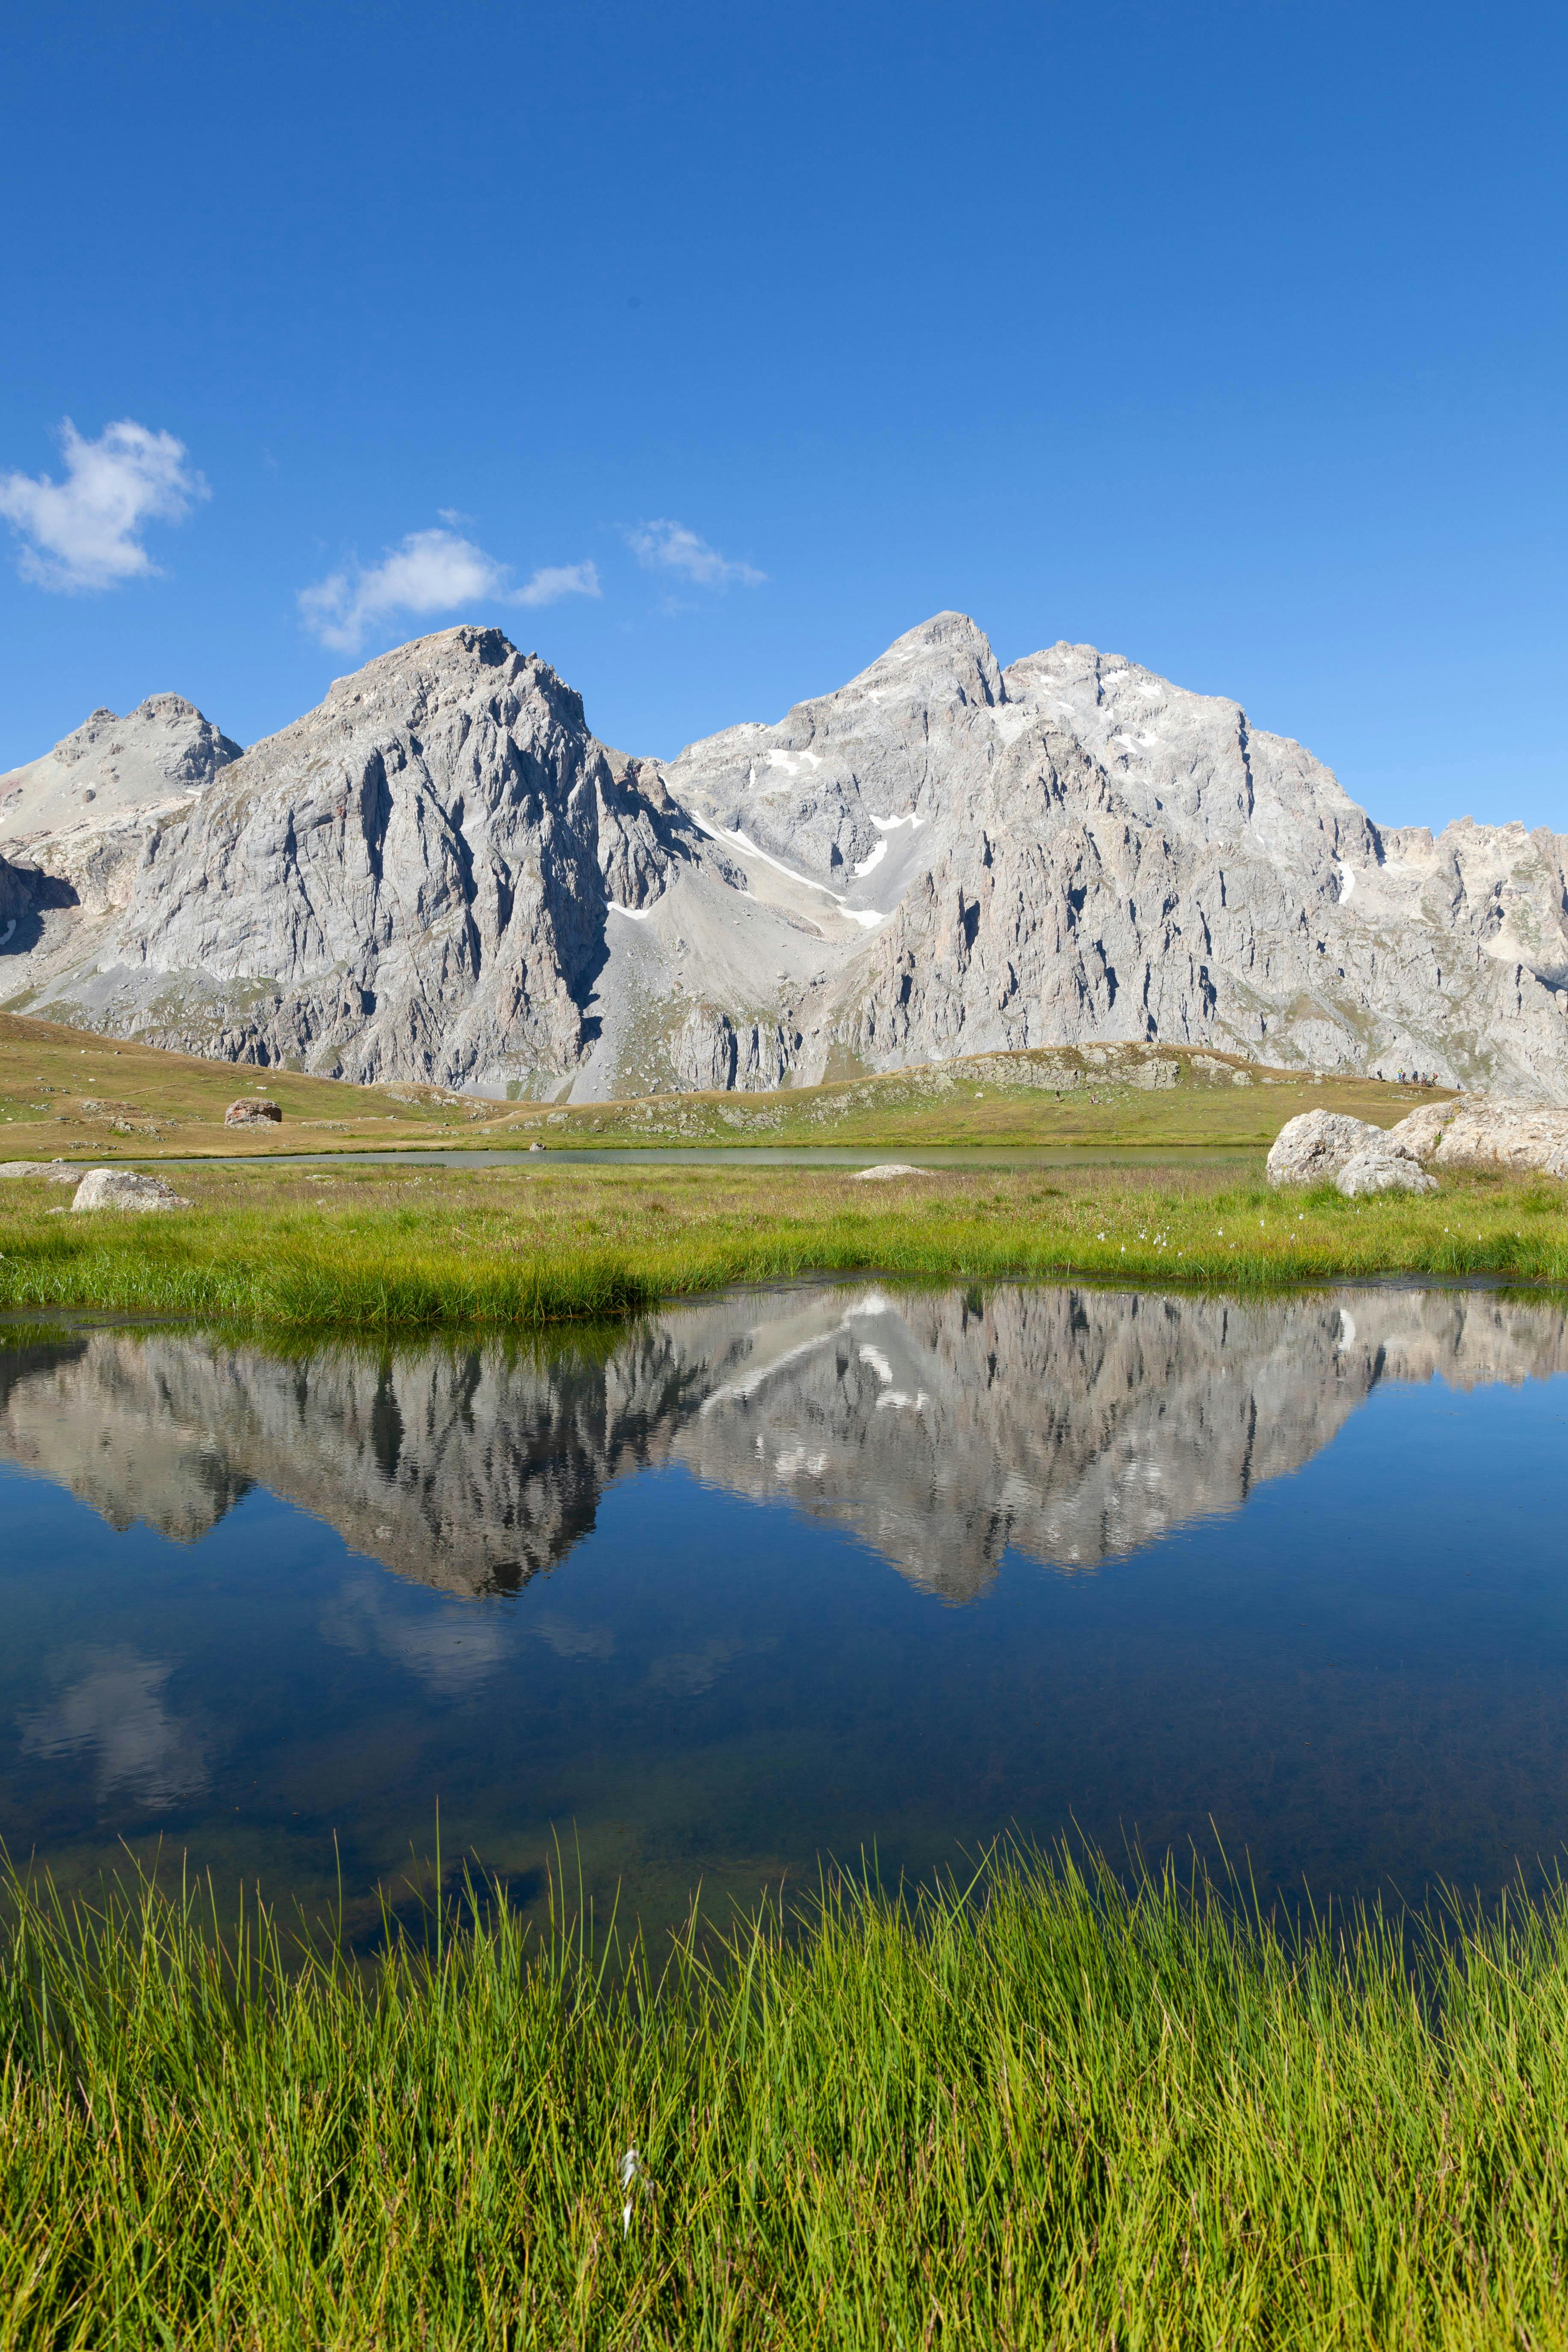
[[[19,12],[0,767],[454,619],[670,755],[959,607],[1568,830],[1566,68],[1509,0]]]

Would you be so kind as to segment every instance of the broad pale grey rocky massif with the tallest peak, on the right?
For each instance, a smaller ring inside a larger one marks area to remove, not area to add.
[[[1568,1101],[1566,837],[1382,833],[1239,703],[1121,656],[1001,670],[938,614],[668,779],[736,856],[870,917],[809,1068],[1159,1037]]]

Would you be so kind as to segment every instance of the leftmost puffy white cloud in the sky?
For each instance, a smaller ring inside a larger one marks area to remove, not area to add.
[[[47,473],[0,475],[0,515],[24,541],[16,567],[40,588],[113,588],[155,574],[141,546],[148,522],[181,522],[193,499],[209,496],[186,463],[186,445],[122,416],[96,442],[71,419],[59,430],[66,480]]]

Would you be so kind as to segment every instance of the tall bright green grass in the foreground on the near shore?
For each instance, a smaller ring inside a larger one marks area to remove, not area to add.
[[[1568,1912],[1429,1952],[1004,1867],[599,1983],[501,1915],[0,1969],[0,2340],[1559,2345]],[[630,2187],[625,2154],[635,2150]]]

